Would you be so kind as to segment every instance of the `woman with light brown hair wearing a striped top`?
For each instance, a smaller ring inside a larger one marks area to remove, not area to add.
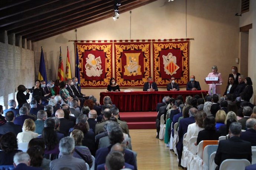
[[[83,159],[92,167],[92,155],[87,146],[82,146],[83,132],[81,130],[75,129],[70,133],[70,137],[75,140],[75,152],[73,152],[73,157]]]

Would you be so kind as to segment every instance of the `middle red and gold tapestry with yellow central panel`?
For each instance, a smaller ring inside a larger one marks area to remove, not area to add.
[[[150,42],[114,43],[115,78],[121,87],[141,87],[150,76]]]

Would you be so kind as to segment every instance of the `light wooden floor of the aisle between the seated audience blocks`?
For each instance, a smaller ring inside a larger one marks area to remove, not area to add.
[[[163,140],[156,139],[155,129],[129,130],[132,150],[137,152],[138,170],[180,170],[177,156],[166,147]]]

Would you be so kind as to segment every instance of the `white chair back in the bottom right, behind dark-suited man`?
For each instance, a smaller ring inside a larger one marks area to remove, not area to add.
[[[247,159],[226,159],[220,164],[220,170],[242,170],[250,164]]]

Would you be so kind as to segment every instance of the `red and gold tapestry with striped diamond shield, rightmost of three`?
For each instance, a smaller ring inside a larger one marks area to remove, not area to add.
[[[153,75],[157,86],[166,86],[171,76],[186,86],[189,81],[189,41],[153,42]]]

